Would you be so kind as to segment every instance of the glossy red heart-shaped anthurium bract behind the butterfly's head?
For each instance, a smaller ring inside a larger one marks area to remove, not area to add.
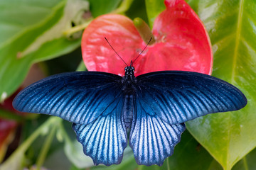
[[[135,75],[162,70],[183,70],[211,74],[213,53],[206,28],[183,0],[166,0],[152,33],[156,42],[134,62]],[[82,35],[82,57],[89,71],[124,75],[126,64],[115,54],[105,38],[129,65],[146,43],[132,20],[126,16],[99,16]]]

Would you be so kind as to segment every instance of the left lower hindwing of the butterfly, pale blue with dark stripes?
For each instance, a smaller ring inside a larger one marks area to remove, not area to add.
[[[121,92],[121,91],[120,91]],[[122,118],[124,97],[122,94],[88,125],[73,124],[84,153],[97,164],[120,164],[127,147],[127,132]]]

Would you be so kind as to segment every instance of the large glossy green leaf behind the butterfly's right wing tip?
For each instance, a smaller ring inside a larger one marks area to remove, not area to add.
[[[229,170],[256,147],[256,1],[188,1],[205,24],[213,45],[213,76],[247,96],[240,111],[216,113],[186,123],[189,132]]]

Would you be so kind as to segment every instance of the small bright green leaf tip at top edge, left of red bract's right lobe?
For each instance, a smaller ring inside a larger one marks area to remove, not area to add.
[[[146,2],[146,14],[149,20],[149,27],[152,28],[156,16],[166,9],[164,6],[164,0],[145,0]]]

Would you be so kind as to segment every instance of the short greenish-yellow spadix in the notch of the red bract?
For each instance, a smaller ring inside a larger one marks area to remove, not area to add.
[[[142,18],[134,18],[134,26],[137,28],[139,35],[141,35],[142,40],[146,44],[149,42],[150,38],[152,38],[152,40],[149,42],[149,45],[153,45],[154,42],[156,42],[149,26],[146,24],[145,21],[142,20]]]

